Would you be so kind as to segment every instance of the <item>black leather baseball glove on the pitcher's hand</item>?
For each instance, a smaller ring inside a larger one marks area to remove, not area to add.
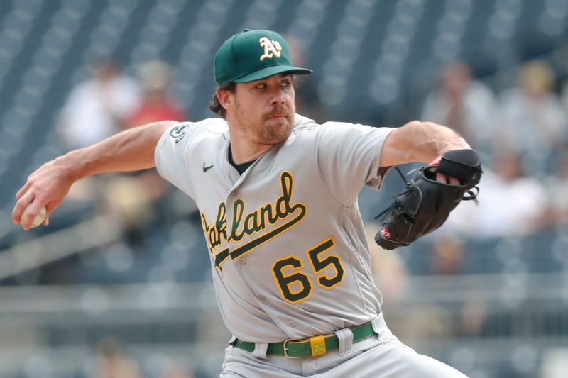
[[[481,178],[481,163],[474,150],[453,150],[444,153],[430,165],[410,171],[414,177],[407,182],[395,167],[406,185],[406,190],[395,195],[393,204],[375,217],[381,218],[381,229],[375,241],[386,250],[409,245],[422,235],[442,226],[463,200],[474,200],[479,194],[476,184]],[[440,172],[455,177],[460,184],[436,181]]]

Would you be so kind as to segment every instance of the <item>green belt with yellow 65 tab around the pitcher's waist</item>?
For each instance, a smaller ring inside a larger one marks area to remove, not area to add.
[[[364,340],[366,338],[370,338],[372,335],[375,334],[373,330],[373,325],[369,321],[367,323],[361,324],[361,326],[357,326],[355,328],[351,328],[351,332],[353,333],[353,342],[356,343],[358,341]],[[284,350],[284,343],[286,343],[287,350]],[[254,351],[255,343],[251,343],[248,341],[241,341],[236,339],[235,346],[236,348],[240,348],[242,350],[246,350],[247,352]],[[337,335],[332,334],[325,337],[325,348],[329,350],[337,350],[339,349],[339,338]],[[312,357],[312,349],[310,347],[310,340],[305,341],[290,341],[287,340],[286,342],[282,343],[269,343],[268,348],[266,350],[267,355],[278,355],[278,356],[286,356],[292,358],[309,358]]]

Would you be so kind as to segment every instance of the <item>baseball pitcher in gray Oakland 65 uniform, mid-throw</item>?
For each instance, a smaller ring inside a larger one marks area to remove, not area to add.
[[[221,118],[152,123],[45,163],[16,195],[28,230],[73,182],[156,167],[200,211],[219,310],[233,337],[222,377],[465,377],[400,343],[383,320],[357,196],[389,167],[430,162],[383,213],[377,243],[435,230],[479,181],[476,153],[449,128],[319,125],[295,113],[285,40],[244,30],[214,57]],[[29,206],[25,217],[23,210]]]

